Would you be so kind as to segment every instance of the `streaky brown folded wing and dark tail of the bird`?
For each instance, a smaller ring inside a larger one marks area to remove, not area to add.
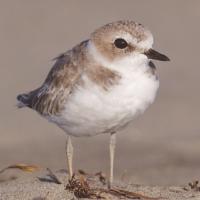
[[[81,76],[82,68],[73,64],[71,52],[56,58],[43,85],[27,94],[18,95],[19,107],[28,106],[42,115],[56,115]]]

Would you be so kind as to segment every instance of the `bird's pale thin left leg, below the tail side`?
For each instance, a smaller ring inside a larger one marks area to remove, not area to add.
[[[69,179],[71,179],[73,175],[73,170],[72,170],[73,146],[70,136],[67,137],[66,154],[67,154],[67,165],[69,170]]]

